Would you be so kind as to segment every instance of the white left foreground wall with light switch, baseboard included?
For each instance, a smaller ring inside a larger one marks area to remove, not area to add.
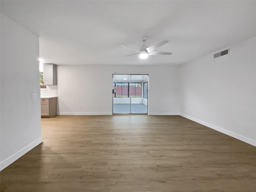
[[[1,13],[0,170],[42,142],[39,38]],[[32,100],[32,93],[38,98]]]

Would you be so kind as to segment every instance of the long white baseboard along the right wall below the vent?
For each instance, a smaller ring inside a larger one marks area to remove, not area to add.
[[[220,127],[215,126],[215,125],[213,125],[213,124],[204,122],[204,121],[202,121],[202,120],[196,119],[196,118],[194,118],[194,117],[191,117],[191,116],[188,116],[188,115],[185,115],[185,114],[182,114],[182,113],[180,113],[180,116],[185,117],[185,118],[187,118],[187,119],[190,119],[190,120],[192,120],[192,121],[194,121],[194,122],[200,123],[200,124],[202,124],[202,125],[204,125],[204,126],[207,126],[207,127],[209,127],[209,128],[212,128],[212,129],[214,129],[214,130],[216,130],[216,131],[219,131],[219,132],[224,133],[224,134],[226,134],[226,135],[228,135],[228,136],[234,137],[234,138],[236,138],[236,139],[238,139],[238,140],[241,140],[241,141],[246,142],[246,143],[248,143],[248,144],[251,144],[251,145],[253,145],[253,146],[256,146],[256,141],[255,141],[255,140],[252,140],[252,139],[247,138],[247,137],[245,137],[245,136],[242,136],[242,135],[240,135],[240,134],[237,134],[237,133],[234,133],[234,132],[232,132],[232,131],[229,131],[229,130],[220,128]]]

